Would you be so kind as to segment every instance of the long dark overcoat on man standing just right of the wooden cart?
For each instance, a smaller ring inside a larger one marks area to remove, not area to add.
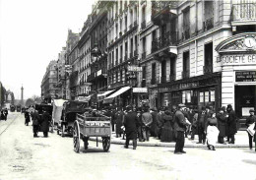
[[[136,112],[128,112],[124,116],[124,127],[126,138],[129,140],[137,139],[137,127],[139,119]]]

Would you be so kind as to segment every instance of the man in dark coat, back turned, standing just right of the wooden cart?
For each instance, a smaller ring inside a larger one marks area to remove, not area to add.
[[[126,134],[125,149],[128,149],[130,140],[133,140],[133,150],[137,147],[137,127],[139,124],[137,113],[132,110],[132,107],[127,107],[128,113],[124,116],[124,127]]]

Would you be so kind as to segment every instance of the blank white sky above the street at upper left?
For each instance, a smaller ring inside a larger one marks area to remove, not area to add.
[[[0,81],[15,98],[40,96],[46,67],[80,32],[95,0],[0,0]]]

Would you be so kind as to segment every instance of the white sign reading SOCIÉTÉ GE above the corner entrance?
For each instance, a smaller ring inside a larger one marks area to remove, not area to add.
[[[223,65],[256,64],[256,54],[233,54],[222,56]]]

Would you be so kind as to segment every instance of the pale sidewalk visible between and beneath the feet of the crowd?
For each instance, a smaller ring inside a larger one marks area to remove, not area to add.
[[[185,139],[185,148],[206,148],[206,145],[203,144],[196,144],[198,142],[198,136],[195,136],[195,140],[189,140],[190,135],[188,136],[189,138]],[[248,134],[246,131],[238,131],[236,135],[234,136],[235,138],[235,144],[217,144],[216,148],[248,148],[249,149],[249,140],[248,140]],[[92,141],[96,141],[96,137],[90,138]],[[97,139],[98,142],[101,142],[101,138]],[[132,141],[130,141],[130,145]],[[122,140],[122,138],[116,138],[115,133],[112,133],[111,136],[111,144],[118,144],[118,145],[124,145],[125,140]],[[175,147],[175,142],[171,143],[162,143],[160,140],[157,140],[154,137],[150,137],[149,142],[139,142],[137,143],[138,146],[144,146],[144,147],[169,147],[169,148],[174,148]],[[255,146],[255,143],[253,143],[253,147]],[[254,148],[253,148],[254,149]]]

